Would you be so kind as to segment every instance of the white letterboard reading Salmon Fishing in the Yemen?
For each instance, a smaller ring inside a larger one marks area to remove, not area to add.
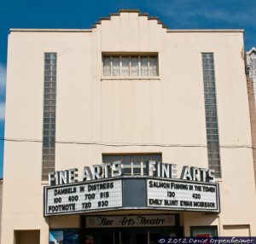
[[[219,212],[217,183],[147,179],[148,206]]]

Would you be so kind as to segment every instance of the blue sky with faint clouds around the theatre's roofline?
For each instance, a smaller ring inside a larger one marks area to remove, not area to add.
[[[244,29],[245,49],[256,46],[256,0],[0,0],[0,177],[9,28],[90,28],[119,9],[140,9],[169,29]]]

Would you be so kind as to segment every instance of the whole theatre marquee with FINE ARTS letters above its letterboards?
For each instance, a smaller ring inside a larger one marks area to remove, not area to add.
[[[120,161],[49,173],[44,216],[122,209],[219,212],[214,170],[148,161],[143,176],[123,176]]]

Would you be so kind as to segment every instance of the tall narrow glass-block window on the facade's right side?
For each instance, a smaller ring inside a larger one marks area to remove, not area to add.
[[[205,93],[205,113],[207,124],[208,165],[211,169],[215,171],[216,177],[221,177],[214,61],[212,53],[202,54],[202,66]]]

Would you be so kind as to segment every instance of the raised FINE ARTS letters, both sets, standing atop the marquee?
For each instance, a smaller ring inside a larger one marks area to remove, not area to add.
[[[157,162],[149,160],[146,162],[146,170],[143,175],[148,177],[166,177],[166,178],[178,178],[177,165],[166,164],[163,162]],[[97,179],[106,179],[111,177],[120,177],[123,175],[124,167],[121,161],[111,163],[105,163],[102,165],[84,166],[81,180],[91,181]],[[49,185],[61,185],[67,183],[78,182],[78,169],[70,169],[66,171],[53,171],[49,172]],[[199,181],[199,182],[215,182],[214,170],[183,166],[183,170],[180,174],[180,179]]]

